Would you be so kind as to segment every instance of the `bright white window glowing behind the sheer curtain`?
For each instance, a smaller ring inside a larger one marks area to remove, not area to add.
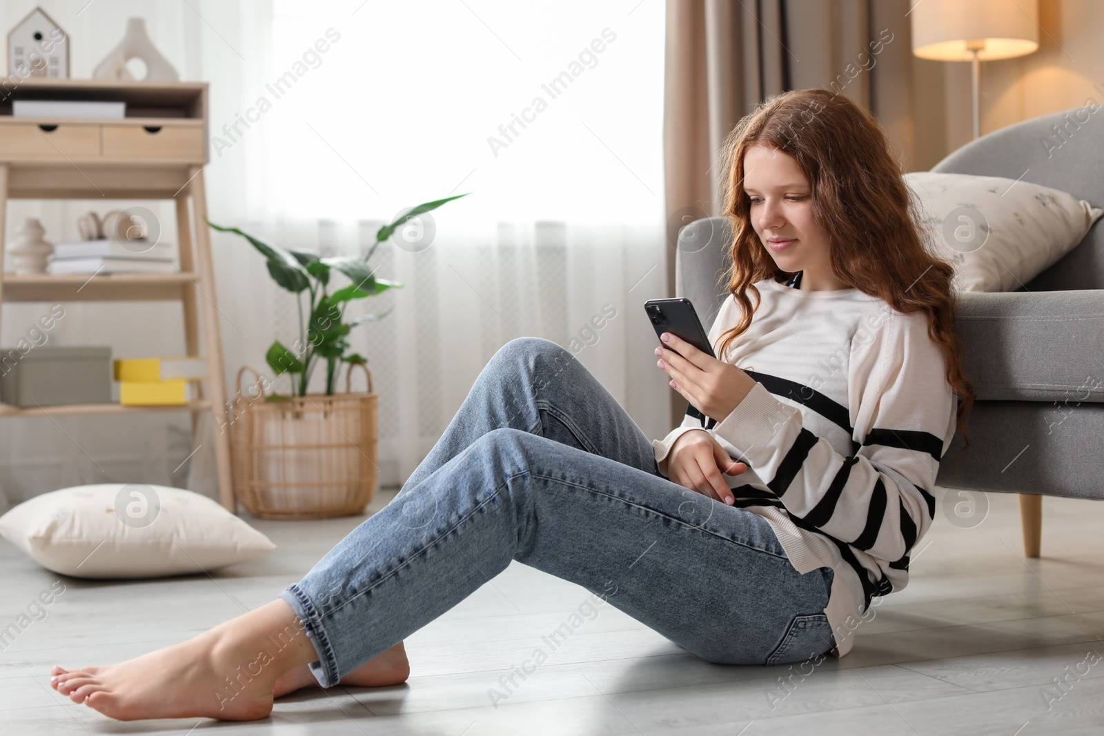
[[[660,0],[278,0],[258,74],[254,215],[661,222]]]

